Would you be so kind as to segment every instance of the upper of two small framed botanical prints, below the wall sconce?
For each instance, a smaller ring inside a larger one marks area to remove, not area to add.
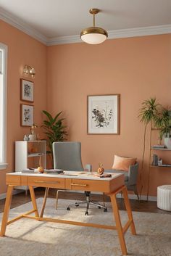
[[[34,102],[34,83],[20,78],[20,99],[25,102]]]

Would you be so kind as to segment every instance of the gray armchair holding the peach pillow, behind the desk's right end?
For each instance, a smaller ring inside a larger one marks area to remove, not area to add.
[[[134,191],[137,195],[138,200],[138,191],[137,191],[137,178],[138,178],[138,162],[135,162],[135,165],[130,165],[128,171],[125,170],[105,170],[106,173],[124,173],[125,175],[125,185],[129,191]]]

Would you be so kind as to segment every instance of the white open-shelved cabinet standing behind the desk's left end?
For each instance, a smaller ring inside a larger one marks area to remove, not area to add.
[[[26,168],[46,169],[46,141],[15,141],[15,172],[21,172]],[[20,186],[17,189],[25,189]]]

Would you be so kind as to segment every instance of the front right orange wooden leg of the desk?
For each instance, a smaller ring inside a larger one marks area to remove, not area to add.
[[[122,224],[120,221],[120,212],[117,206],[117,198],[116,198],[116,194],[110,194],[110,198],[111,198],[111,203],[112,203],[112,209],[113,209],[113,213],[114,213],[114,219],[116,222],[116,227],[117,227],[117,234],[119,236],[120,239],[120,247],[122,250],[122,255],[128,255],[127,252],[127,247],[125,244],[125,237],[122,231]]]

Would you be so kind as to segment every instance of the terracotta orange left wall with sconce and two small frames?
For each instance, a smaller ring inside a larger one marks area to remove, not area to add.
[[[35,67],[34,121],[41,125],[41,110],[46,109],[46,46],[0,21],[0,42],[8,46],[7,68],[7,162],[6,170],[0,170],[0,194],[6,192],[5,174],[14,170],[14,141],[22,140],[29,128],[20,126],[20,78],[25,64]],[[30,78],[26,78],[29,79]],[[26,104],[29,104],[25,102]]]

